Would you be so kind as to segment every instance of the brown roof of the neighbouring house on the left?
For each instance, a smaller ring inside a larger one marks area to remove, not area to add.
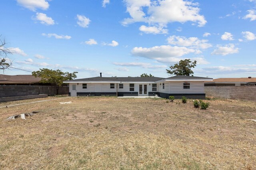
[[[4,75],[0,74],[0,83],[39,83],[40,77],[33,75]]]

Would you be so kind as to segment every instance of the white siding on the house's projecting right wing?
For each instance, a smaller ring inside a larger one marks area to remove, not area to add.
[[[183,81],[172,81],[168,83],[170,85],[170,93],[173,94],[202,94],[204,93],[204,82],[203,81],[190,81],[190,89],[183,89]],[[167,83],[166,83],[167,85]],[[162,92],[164,93],[164,92]]]

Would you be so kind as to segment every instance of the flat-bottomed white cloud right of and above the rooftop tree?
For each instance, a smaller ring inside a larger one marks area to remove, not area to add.
[[[239,52],[239,48],[236,48],[234,44],[226,44],[225,46],[217,45],[217,49],[211,53],[212,55],[228,55]]]

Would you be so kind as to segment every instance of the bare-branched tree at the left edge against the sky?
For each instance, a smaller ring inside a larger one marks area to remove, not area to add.
[[[1,35],[0,35],[1,37]],[[0,70],[8,69],[12,65],[12,61],[10,61],[9,58],[7,58],[8,54],[12,54],[12,52],[5,47],[6,42],[5,39],[1,40],[0,38]]]

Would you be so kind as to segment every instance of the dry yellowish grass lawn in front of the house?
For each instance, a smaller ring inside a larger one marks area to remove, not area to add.
[[[0,108],[0,169],[255,170],[256,102],[207,102],[68,97]]]

